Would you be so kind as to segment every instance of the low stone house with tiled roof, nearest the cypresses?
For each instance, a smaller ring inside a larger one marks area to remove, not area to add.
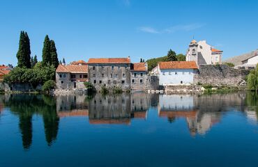
[[[88,65],[59,65],[56,69],[59,89],[84,89],[85,81],[88,81]]]

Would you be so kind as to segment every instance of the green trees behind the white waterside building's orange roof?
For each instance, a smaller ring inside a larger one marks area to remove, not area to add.
[[[185,55],[176,54],[175,51],[169,49],[169,51],[167,51],[167,56],[151,58],[147,60],[146,62],[148,63],[148,70],[151,71],[154,67],[158,65],[158,62],[160,61],[185,61]]]

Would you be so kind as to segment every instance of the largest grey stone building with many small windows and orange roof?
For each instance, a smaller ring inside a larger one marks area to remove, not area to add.
[[[100,90],[102,86],[121,86],[130,89],[130,57],[128,58],[89,58],[89,81]]]

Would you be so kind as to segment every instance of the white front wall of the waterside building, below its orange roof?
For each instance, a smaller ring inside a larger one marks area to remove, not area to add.
[[[177,72],[177,74],[176,74]],[[172,85],[172,84],[192,84],[194,78],[193,69],[171,69],[171,70],[160,70],[158,68],[158,75],[160,77],[160,85]]]

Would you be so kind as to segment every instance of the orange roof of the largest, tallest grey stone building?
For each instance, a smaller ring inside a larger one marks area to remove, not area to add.
[[[89,58],[88,64],[129,64],[131,63],[130,58]]]

